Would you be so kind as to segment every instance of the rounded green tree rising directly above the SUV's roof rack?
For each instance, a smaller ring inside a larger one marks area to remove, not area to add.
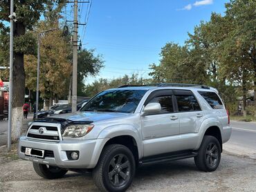
[[[161,61],[157,66],[152,64],[153,70],[149,75],[154,82],[194,83],[204,84],[206,79],[205,68],[201,63],[193,61],[192,55],[196,53],[188,46],[167,43],[161,50]],[[201,57],[199,55],[199,57]],[[196,74],[196,75],[195,75]]]

